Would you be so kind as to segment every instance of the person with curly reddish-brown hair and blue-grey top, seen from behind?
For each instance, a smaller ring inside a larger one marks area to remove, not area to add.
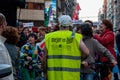
[[[7,26],[6,29],[3,31],[2,36],[4,36],[7,40],[5,42],[5,46],[8,49],[10,57],[12,59],[13,65],[13,73],[15,80],[17,80],[16,72],[18,71],[19,66],[19,58],[18,58],[18,47],[16,46],[19,35],[16,28],[12,26]]]

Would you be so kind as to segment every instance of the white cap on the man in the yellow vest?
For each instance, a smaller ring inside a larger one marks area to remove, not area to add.
[[[62,26],[72,26],[72,19],[69,15],[61,15],[58,21]]]

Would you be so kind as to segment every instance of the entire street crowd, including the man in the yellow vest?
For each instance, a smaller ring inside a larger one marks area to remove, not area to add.
[[[114,34],[112,22],[101,20],[99,30],[90,20],[73,25],[69,15],[60,16],[58,22],[34,32],[7,26],[0,13],[0,64],[13,67],[13,73],[1,80],[94,80],[97,68],[90,65],[96,62],[111,64],[100,66],[101,80],[112,80],[111,75],[119,80],[119,72],[112,71],[120,67],[114,47],[116,43],[119,54],[120,32]]]

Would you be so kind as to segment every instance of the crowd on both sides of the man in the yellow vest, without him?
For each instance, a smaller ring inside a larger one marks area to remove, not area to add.
[[[111,63],[117,61],[120,69],[120,30],[117,30],[114,34],[113,24],[106,19],[102,20],[98,28],[93,27],[92,21],[89,20],[73,26],[76,26],[75,33],[83,36],[82,40],[90,51],[89,57],[81,63],[81,80],[94,79],[95,71],[88,66],[90,63],[96,62],[96,60]],[[4,45],[11,57],[13,74],[16,80],[18,80],[18,76],[22,76],[23,80],[34,80],[39,76],[44,77],[46,80],[47,72],[44,69],[45,35],[59,30],[59,25],[52,27],[40,26],[36,31],[29,27],[18,26],[15,28],[6,26],[1,35],[7,39]],[[36,67],[37,71],[40,70],[39,72],[36,72]],[[102,66],[101,79],[111,80],[112,70],[113,66]],[[19,72],[22,74],[18,75]],[[119,71],[114,72],[114,80],[119,80],[118,73]]]

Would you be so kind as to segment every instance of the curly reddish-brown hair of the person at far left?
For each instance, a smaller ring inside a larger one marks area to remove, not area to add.
[[[16,28],[12,27],[12,26],[7,26],[3,32],[2,32],[2,36],[4,36],[5,38],[7,38],[6,42],[10,43],[10,44],[17,44],[18,40],[19,40],[19,34]]]

